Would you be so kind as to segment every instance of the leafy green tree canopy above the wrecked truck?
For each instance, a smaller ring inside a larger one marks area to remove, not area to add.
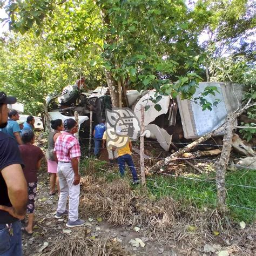
[[[253,8],[250,0],[9,1],[0,86],[38,113],[46,95],[82,75],[89,89],[108,85],[115,106],[124,87],[191,98],[200,80],[252,81]]]

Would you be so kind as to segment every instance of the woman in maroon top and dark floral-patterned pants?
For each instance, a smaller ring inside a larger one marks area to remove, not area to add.
[[[42,150],[33,145],[35,143],[35,134],[31,130],[24,131],[22,134],[22,142],[19,146],[21,157],[25,168],[23,169],[26,182],[28,183],[28,205],[26,212],[28,213],[28,226],[22,228],[26,234],[33,233],[33,220],[35,217],[35,197],[37,190],[37,170],[41,166],[41,160],[44,157]]]

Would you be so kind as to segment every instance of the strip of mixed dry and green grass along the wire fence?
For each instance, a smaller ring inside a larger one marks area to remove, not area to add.
[[[88,159],[86,166],[89,167],[93,161]],[[84,167],[81,166],[82,169]],[[244,211],[242,214],[234,212],[231,208],[230,214],[236,214],[234,218],[221,218],[214,209],[214,183],[209,186],[208,183],[155,176],[147,179],[149,189],[144,190],[140,186],[131,186],[129,177],[120,178],[118,171],[111,170],[104,162],[99,169],[84,172],[87,175],[81,181],[80,197],[84,217],[101,218],[112,225],[140,227],[141,234],[157,239],[161,244],[173,245],[182,240],[187,250],[194,250],[194,246],[200,250],[205,243],[217,242],[226,248],[235,245],[233,253],[252,253],[253,241],[247,237],[254,228],[253,224],[241,230],[237,221],[244,220],[248,224],[253,216],[246,216]],[[243,174],[241,183],[254,177],[248,177],[246,171],[240,174]],[[237,180],[239,174],[234,175],[228,181]],[[247,203],[253,201],[252,191],[244,193],[227,189],[229,203],[244,204],[246,194]],[[235,201],[238,197],[241,200]]]

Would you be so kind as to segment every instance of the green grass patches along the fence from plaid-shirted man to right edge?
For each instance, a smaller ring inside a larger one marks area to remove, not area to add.
[[[111,183],[120,179],[118,167],[112,167],[105,161],[86,158],[81,161],[80,171],[86,175],[102,179]],[[130,182],[130,171],[126,170],[126,182]],[[209,176],[189,174],[187,177],[202,179],[202,181],[184,179],[182,177],[168,177],[157,174],[146,179],[148,196],[153,200],[161,200],[166,197],[173,198],[184,206],[198,208],[204,212],[206,209],[214,209],[216,206],[216,185],[214,173]],[[255,170],[229,171],[226,174],[226,203],[229,208],[228,215],[234,221],[252,223],[255,220],[255,212],[243,208],[256,208],[255,189],[229,184],[254,186],[256,179]],[[204,180],[209,180],[204,181]],[[131,186],[134,191],[141,192],[141,186]]]

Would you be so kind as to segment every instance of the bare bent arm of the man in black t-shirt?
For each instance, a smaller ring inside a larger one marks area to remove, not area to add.
[[[12,207],[1,205],[0,210],[9,212],[15,218],[23,219],[26,214],[26,204],[28,201],[28,185],[21,165],[12,164],[4,167],[2,176],[8,189],[8,196]]]

